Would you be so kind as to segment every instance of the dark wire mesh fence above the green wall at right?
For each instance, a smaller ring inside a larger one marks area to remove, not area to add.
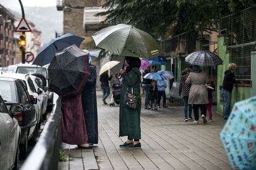
[[[256,51],[256,6],[221,18],[220,34],[226,35],[231,62],[237,64],[236,79],[250,84],[251,52]]]

